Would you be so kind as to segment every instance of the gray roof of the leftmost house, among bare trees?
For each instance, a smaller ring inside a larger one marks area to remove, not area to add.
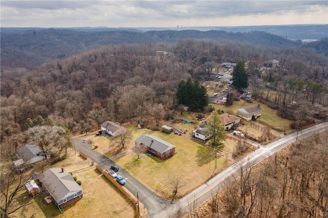
[[[44,152],[35,144],[26,144],[22,148],[17,149],[16,154],[27,163],[33,163],[45,158]],[[40,158],[33,161],[32,159],[36,156],[40,156]]]

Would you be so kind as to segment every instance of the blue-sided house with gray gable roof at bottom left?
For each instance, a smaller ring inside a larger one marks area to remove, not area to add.
[[[49,192],[52,201],[62,208],[83,197],[82,188],[75,182],[72,175],[63,168],[50,168],[38,177],[42,186]]]

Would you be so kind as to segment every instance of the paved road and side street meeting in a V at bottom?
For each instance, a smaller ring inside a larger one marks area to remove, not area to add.
[[[309,137],[313,134],[320,133],[328,130],[328,123],[318,124],[316,126],[294,132],[292,134],[286,135],[277,141],[274,141],[270,144],[267,144],[265,148],[260,148],[247,157],[243,158],[239,163],[236,163],[226,170],[215,176],[208,183],[200,186],[195,189],[189,195],[175,201],[173,204],[170,204],[170,201],[162,199],[155,192],[150,190],[145,185],[141,184],[138,180],[132,177],[124,169],[120,169],[119,173],[127,179],[126,187],[132,192],[135,193],[138,191],[139,199],[145,204],[148,209],[149,217],[168,217],[170,214],[174,214],[178,209],[181,209],[182,212],[190,212],[190,208],[195,208],[202,204],[204,201],[211,198],[211,196],[216,193],[218,190],[222,189],[226,184],[227,180],[233,178],[233,176],[238,176],[238,165],[248,164],[256,165],[265,158],[268,158],[270,155],[275,154],[279,150],[289,146],[291,143],[296,140]],[[76,150],[88,155],[94,162],[99,164],[101,167],[109,168],[114,162],[100,153],[91,150],[91,147],[88,143],[82,143],[81,139],[74,139]]]

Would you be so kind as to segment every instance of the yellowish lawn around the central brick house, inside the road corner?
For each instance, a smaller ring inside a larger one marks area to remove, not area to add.
[[[165,161],[151,155],[142,155],[137,160],[137,155],[129,152],[118,158],[116,162],[163,197],[168,198],[172,194],[173,187],[170,180],[179,180],[181,187],[178,190],[178,195],[181,197],[204,184],[213,173],[217,174],[231,165],[229,160],[218,157],[217,168],[214,171],[214,151],[185,137],[172,133],[138,130],[137,135],[140,136],[141,134],[154,135],[174,144],[176,154]],[[187,135],[185,136],[187,137]]]

